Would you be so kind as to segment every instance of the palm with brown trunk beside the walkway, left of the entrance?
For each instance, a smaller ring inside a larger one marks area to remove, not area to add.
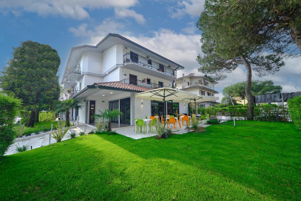
[[[54,107],[53,111],[56,113],[62,113],[66,115],[66,124],[70,126],[70,110],[72,109],[82,109],[83,106],[79,105],[80,101],[76,99],[68,99],[64,101],[58,101]]]

